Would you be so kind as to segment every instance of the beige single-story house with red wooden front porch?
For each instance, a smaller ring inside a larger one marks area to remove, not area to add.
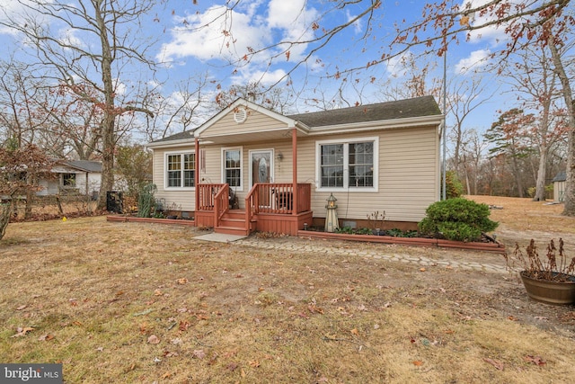
[[[388,227],[415,228],[439,199],[442,119],[432,96],[295,115],[237,99],[148,144],[156,199],[230,234],[323,225],[331,195],[340,224],[385,211]]]

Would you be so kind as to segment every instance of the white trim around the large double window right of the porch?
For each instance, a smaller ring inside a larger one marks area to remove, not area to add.
[[[356,187],[349,185],[349,144],[374,143],[374,185],[372,187]],[[329,144],[343,144],[343,186],[323,187],[322,186],[322,146]],[[315,189],[318,192],[378,192],[379,191],[379,137],[365,138],[333,138],[329,140],[318,140],[315,142]]]

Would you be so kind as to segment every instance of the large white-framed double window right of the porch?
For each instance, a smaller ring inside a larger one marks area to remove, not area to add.
[[[317,142],[320,189],[376,190],[377,138]]]

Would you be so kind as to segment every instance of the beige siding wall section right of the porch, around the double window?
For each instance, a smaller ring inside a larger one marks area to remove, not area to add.
[[[438,133],[436,128],[389,129],[378,133],[330,135],[342,142],[355,138],[379,137],[378,190],[358,192],[349,188],[332,192],[338,199],[341,219],[366,219],[367,215],[385,210],[385,218],[393,221],[419,221],[425,210],[438,200]],[[315,170],[315,136],[300,140],[298,145],[299,182],[314,183],[312,210],[314,217],[325,217],[325,204],[331,192],[316,190],[319,184]]]

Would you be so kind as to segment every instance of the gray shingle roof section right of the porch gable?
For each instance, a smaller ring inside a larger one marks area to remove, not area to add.
[[[433,96],[422,96],[396,102],[359,105],[330,111],[301,113],[288,118],[301,121],[310,128],[365,121],[385,121],[420,116],[440,115]]]

